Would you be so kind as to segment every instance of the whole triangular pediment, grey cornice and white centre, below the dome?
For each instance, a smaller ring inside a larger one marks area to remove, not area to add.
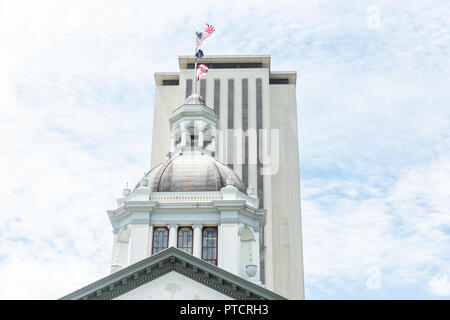
[[[179,287],[176,285],[177,281]],[[157,293],[158,290],[162,290],[160,294]],[[202,299],[206,293],[220,300],[285,299],[174,247],[130,265],[61,299],[111,300],[150,297],[163,300],[167,297],[171,299],[172,291],[174,299]],[[175,297],[175,294],[178,296]]]

